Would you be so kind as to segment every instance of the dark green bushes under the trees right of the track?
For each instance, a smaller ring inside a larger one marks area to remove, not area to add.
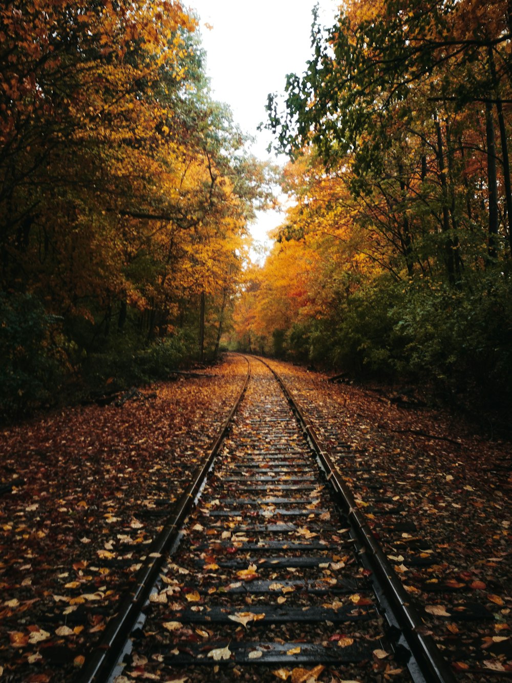
[[[461,288],[382,277],[328,318],[288,333],[293,352],[358,376],[428,382],[444,395],[470,389],[510,400],[512,297],[506,277],[473,275]]]

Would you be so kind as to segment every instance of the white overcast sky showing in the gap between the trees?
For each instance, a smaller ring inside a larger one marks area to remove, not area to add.
[[[268,93],[282,93],[286,74],[302,73],[311,58],[315,0],[185,0],[184,5],[199,14],[214,98],[229,104],[235,122],[257,137],[251,151],[270,158],[270,136],[257,133],[257,126],[266,120]],[[338,5],[339,0],[319,0],[322,23],[335,23]],[[251,232],[263,241],[266,232],[282,221],[278,212],[260,213]]]

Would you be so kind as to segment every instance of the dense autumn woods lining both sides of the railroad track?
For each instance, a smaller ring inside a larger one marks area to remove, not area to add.
[[[512,14],[367,0],[268,98],[294,198],[214,101],[177,1],[0,8],[0,410],[239,348],[511,398]],[[235,305],[236,303],[236,305]],[[234,307],[234,311],[233,311]]]

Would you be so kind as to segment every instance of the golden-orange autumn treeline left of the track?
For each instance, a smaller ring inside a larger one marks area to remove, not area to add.
[[[177,1],[0,8],[0,411],[213,354],[268,169]]]

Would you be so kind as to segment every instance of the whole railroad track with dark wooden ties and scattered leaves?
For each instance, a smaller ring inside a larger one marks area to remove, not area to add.
[[[81,683],[455,680],[286,388],[248,365]]]

